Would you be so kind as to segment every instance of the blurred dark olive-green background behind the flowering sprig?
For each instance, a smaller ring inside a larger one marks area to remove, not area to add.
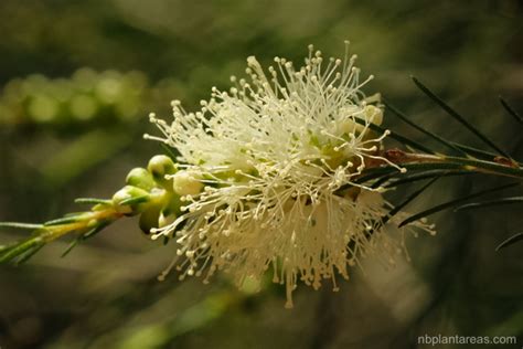
[[[39,222],[77,211],[74,198],[110,197],[162,152],[141,138],[154,131],[149,112],[169,118],[173,98],[195,108],[248,55],[298,63],[309,43],[342,55],[345,39],[377,77],[369,94],[478,146],[416,75],[523,160],[522,130],[498,102],[523,112],[523,1],[1,0],[0,33],[0,220]],[[500,181],[444,179],[408,209]],[[521,347],[523,245],[494,252],[521,231],[521,207],[431,219],[439,233],[407,240],[410,263],[367,258],[339,293],[298,287],[292,310],[270,283],[253,294],[227,275],[157,282],[173,247],[121,221],[65,258],[67,241],[0,267],[0,347],[423,348],[425,334],[519,336]],[[3,231],[0,243],[23,234]]]

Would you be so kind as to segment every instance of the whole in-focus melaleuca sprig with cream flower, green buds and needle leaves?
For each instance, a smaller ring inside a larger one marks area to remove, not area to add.
[[[427,96],[495,152],[446,140],[410,121],[380,94],[366,96],[362,87],[373,77],[362,80],[355,60],[348,43],[343,60],[325,60],[310,46],[301,67],[275,57],[275,65],[264,70],[248,57],[247,77],[233,76],[227,92],[213,87],[199,112],[173,101],[172,120],[150,115],[160,136],[146,138],[167,146],[168,155],[132,169],[111,199],[78,199],[92,209],[43,224],[3,223],[34,232],[2,246],[0,262],[24,262],[65,234],[76,234],[73,247],[120,218],[139,215],[140,229],[151,240],[174,246],[175,256],[160,279],[174,268],[180,279],[195,276],[206,283],[225,271],[242,285],[270,273],[285,285],[291,307],[299,284],[317,289],[329,279],[337,290],[337,278],[349,278],[361,258],[394,264],[406,255],[406,235],[436,233],[426,221],[431,213],[466,203],[461,209],[522,201],[509,197],[470,203],[521,182],[521,162],[417,80]],[[386,109],[447,151],[384,128]],[[386,139],[399,147],[386,146]],[[516,181],[414,215],[404,211],[438,178],[474,172]],[[428,181],[404,201],[386,199],[388,190],[421,180]]]

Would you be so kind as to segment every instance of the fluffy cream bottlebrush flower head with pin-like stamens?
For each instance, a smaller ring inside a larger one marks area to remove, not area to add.
[[[175,237],[171,267],[181,279],[223,269],[241,285],[271,268],[291,306],[299,281],[318,288],[329,278],[337,289],[337,276],[348,278],[361,256],[389,261],[402,251],[403,239],[389,236],[402,214],[383,226],[383,188],[355,182],[370,165],[395,166],[380,156],[388,131],[369,127],[383,110],[378,96],[362,93],[372,76],[360,81],[355,59],[345,47],[344,60],[324,60],[310,46],[305,66],[276,57],[264,72],[252,56],[249,80],[213,87],[200,112],[174,101],[171,124],[151,115],[164,138],[148,138],[178,149],[183,169],[174,174],[182,213],[153,231]]]

